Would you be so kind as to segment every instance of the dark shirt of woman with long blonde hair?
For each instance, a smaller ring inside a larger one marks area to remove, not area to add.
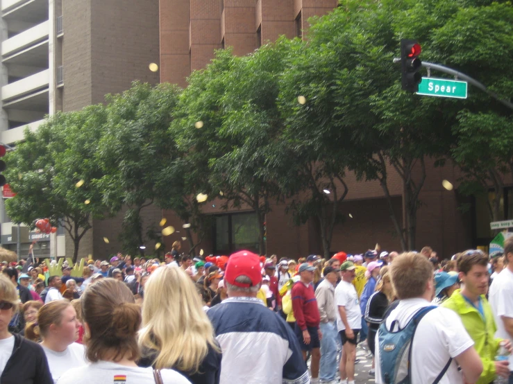
[[[221,349],[221,348],[219,348]],[[156,351],[143,351],[142,358],[139,360],[140,367],[152,367],[153,360],[157,356]],[[221,377],[221,352],[216,351],[210,345],[208,346],[207,356],[203,359],[201,364],[199,365],[199,371],[194,372],[182,372],[175,367],[169,367],[174,369],[176,372],[183,374],[187,380],[189,380],[192,384],[219,384],[219,380]],[[3,384],[3,381],[2,381]]]

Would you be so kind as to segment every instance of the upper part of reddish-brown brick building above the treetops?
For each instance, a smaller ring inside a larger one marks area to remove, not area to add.
[[[185,78],[233,47],[246,55],[280,35],[301,36],[308,19],[337,0],[160,0],[160,82],[185,87]]]

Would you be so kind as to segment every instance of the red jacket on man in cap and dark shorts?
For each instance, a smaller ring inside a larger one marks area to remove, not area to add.
[[[298,281],[292,287],[292,311],[299,328],[304,331],[307,326],[319,328],[321,315],[317,308],[317,299],[315,299],[314,284],[305,286]]]

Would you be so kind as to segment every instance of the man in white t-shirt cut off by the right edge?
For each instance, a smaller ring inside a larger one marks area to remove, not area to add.
[[[497,326],[495,337],[513,342],[513,236],[504,242],[504,269],[491,283],[489,303]],[[513,356],[509,383],[513,384]]]

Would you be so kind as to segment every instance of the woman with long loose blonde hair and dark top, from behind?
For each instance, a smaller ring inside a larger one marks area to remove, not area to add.
[[[191,383],[219,383],[221,352],[190,277],[157,268],[144,290],[139,344],[142,367],[172,368]]]

